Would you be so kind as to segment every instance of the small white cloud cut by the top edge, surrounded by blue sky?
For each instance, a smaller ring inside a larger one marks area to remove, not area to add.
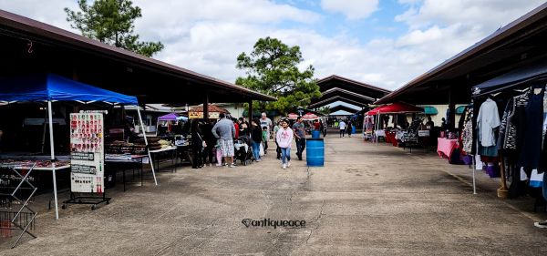
[[[348,19],[362,19],[377,11],[378,0],[321,0],[321,7]]]

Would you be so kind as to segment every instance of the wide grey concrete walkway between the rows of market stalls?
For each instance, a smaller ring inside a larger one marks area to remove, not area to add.
[[[2,255],[547,255],[547,219],[532,200],[499,200],[498,180],[361,138],[325,139],[325,168],[271,148],[246,167],[161,172],[160,186],[121,184],[98,210],[40,211],[35,240]],[[294,156],[294,153],[293,153]],[[64,195],[66,198],[67,195]],[[304,228],[245,227],[243,219],[305,220]]]

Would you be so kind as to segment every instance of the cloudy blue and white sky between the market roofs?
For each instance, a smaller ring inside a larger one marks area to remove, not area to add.
[[[92,2],[92,1],[89,1]],[[134,0],[155,58],[234,82],[236,56],[260,37],[300,46],[315,77],[396,89],[526,14],[536,0]],[[74,31],[75,0],[0,0],[0,9]]]

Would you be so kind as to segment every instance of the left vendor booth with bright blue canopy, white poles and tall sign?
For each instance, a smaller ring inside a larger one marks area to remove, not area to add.
[[[104,193],[105,180],[104,178],[104,163],[108,161],[105,158],[105,139],[107,130],[104,120],[105,112],[100,110],[86,110],[78,113],[71,113],[70,117],[65,117],[69,120],[69,147],[66,148],[66,153],[70,156],[59,156],[56,151],[56,138],[53,118],[52,105],[58,103],[71,104],[77,103],[83,106],[113,106],[119,105],[137,105],[136,97],[129,97],[119,93],[111,92],[98,87],[92,87],[66,77],[60,77],[54,74],[34,74],[24,77],[12,77],[0,80],[0,101],[5,103],[5,106],[14,106],[15,104],[30,103],[30,104],[46,104],[47,120],[46,127],[49,130],[49,154],[26,153],[19,154],[0,154],[2,156],[2,164],[11,166],[19,166],[25,169],[26,162],[32,162],[34,170],[48,170],[52,172],[53,177],[53,194],[55,201],[56,219],[58,219],[58,202],[57,202],[57,178],[56,171],[59,169],[71,170],[71,191],[73,192],[88,192],[98,194],[102,197],[98,202],[106,201]],[[3,107],[0,107],[3,108]],[[139,112],[139,119],[140,112]],[[140,120],[142,124],[142,120]],[[9,136],[4,134],[3,137]],[[144,137],[145,148],[148,147],[147,138]],[[150,153],[143,150],[145,155],[150,158]],[[41,152],[43,153],[43,152]],[[154,182],[157,185],[157,180],[154,168],[151,165]],[[84,186],[85,185],[85,186]],[[88,197],[80,198],[87,200]],[[69,202],[68,202],[69,203]]]

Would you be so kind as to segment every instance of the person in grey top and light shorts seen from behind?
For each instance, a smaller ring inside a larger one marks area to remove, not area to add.
[[[224,113],[219,115],[220,120],[212,128],[212,135],[218,139],[222,150],[222,157],[226,164],[230,164],[230,168],[234,167],[233,163],[233,137],[235,136],[235,127],[231,119],[226,118]]]

